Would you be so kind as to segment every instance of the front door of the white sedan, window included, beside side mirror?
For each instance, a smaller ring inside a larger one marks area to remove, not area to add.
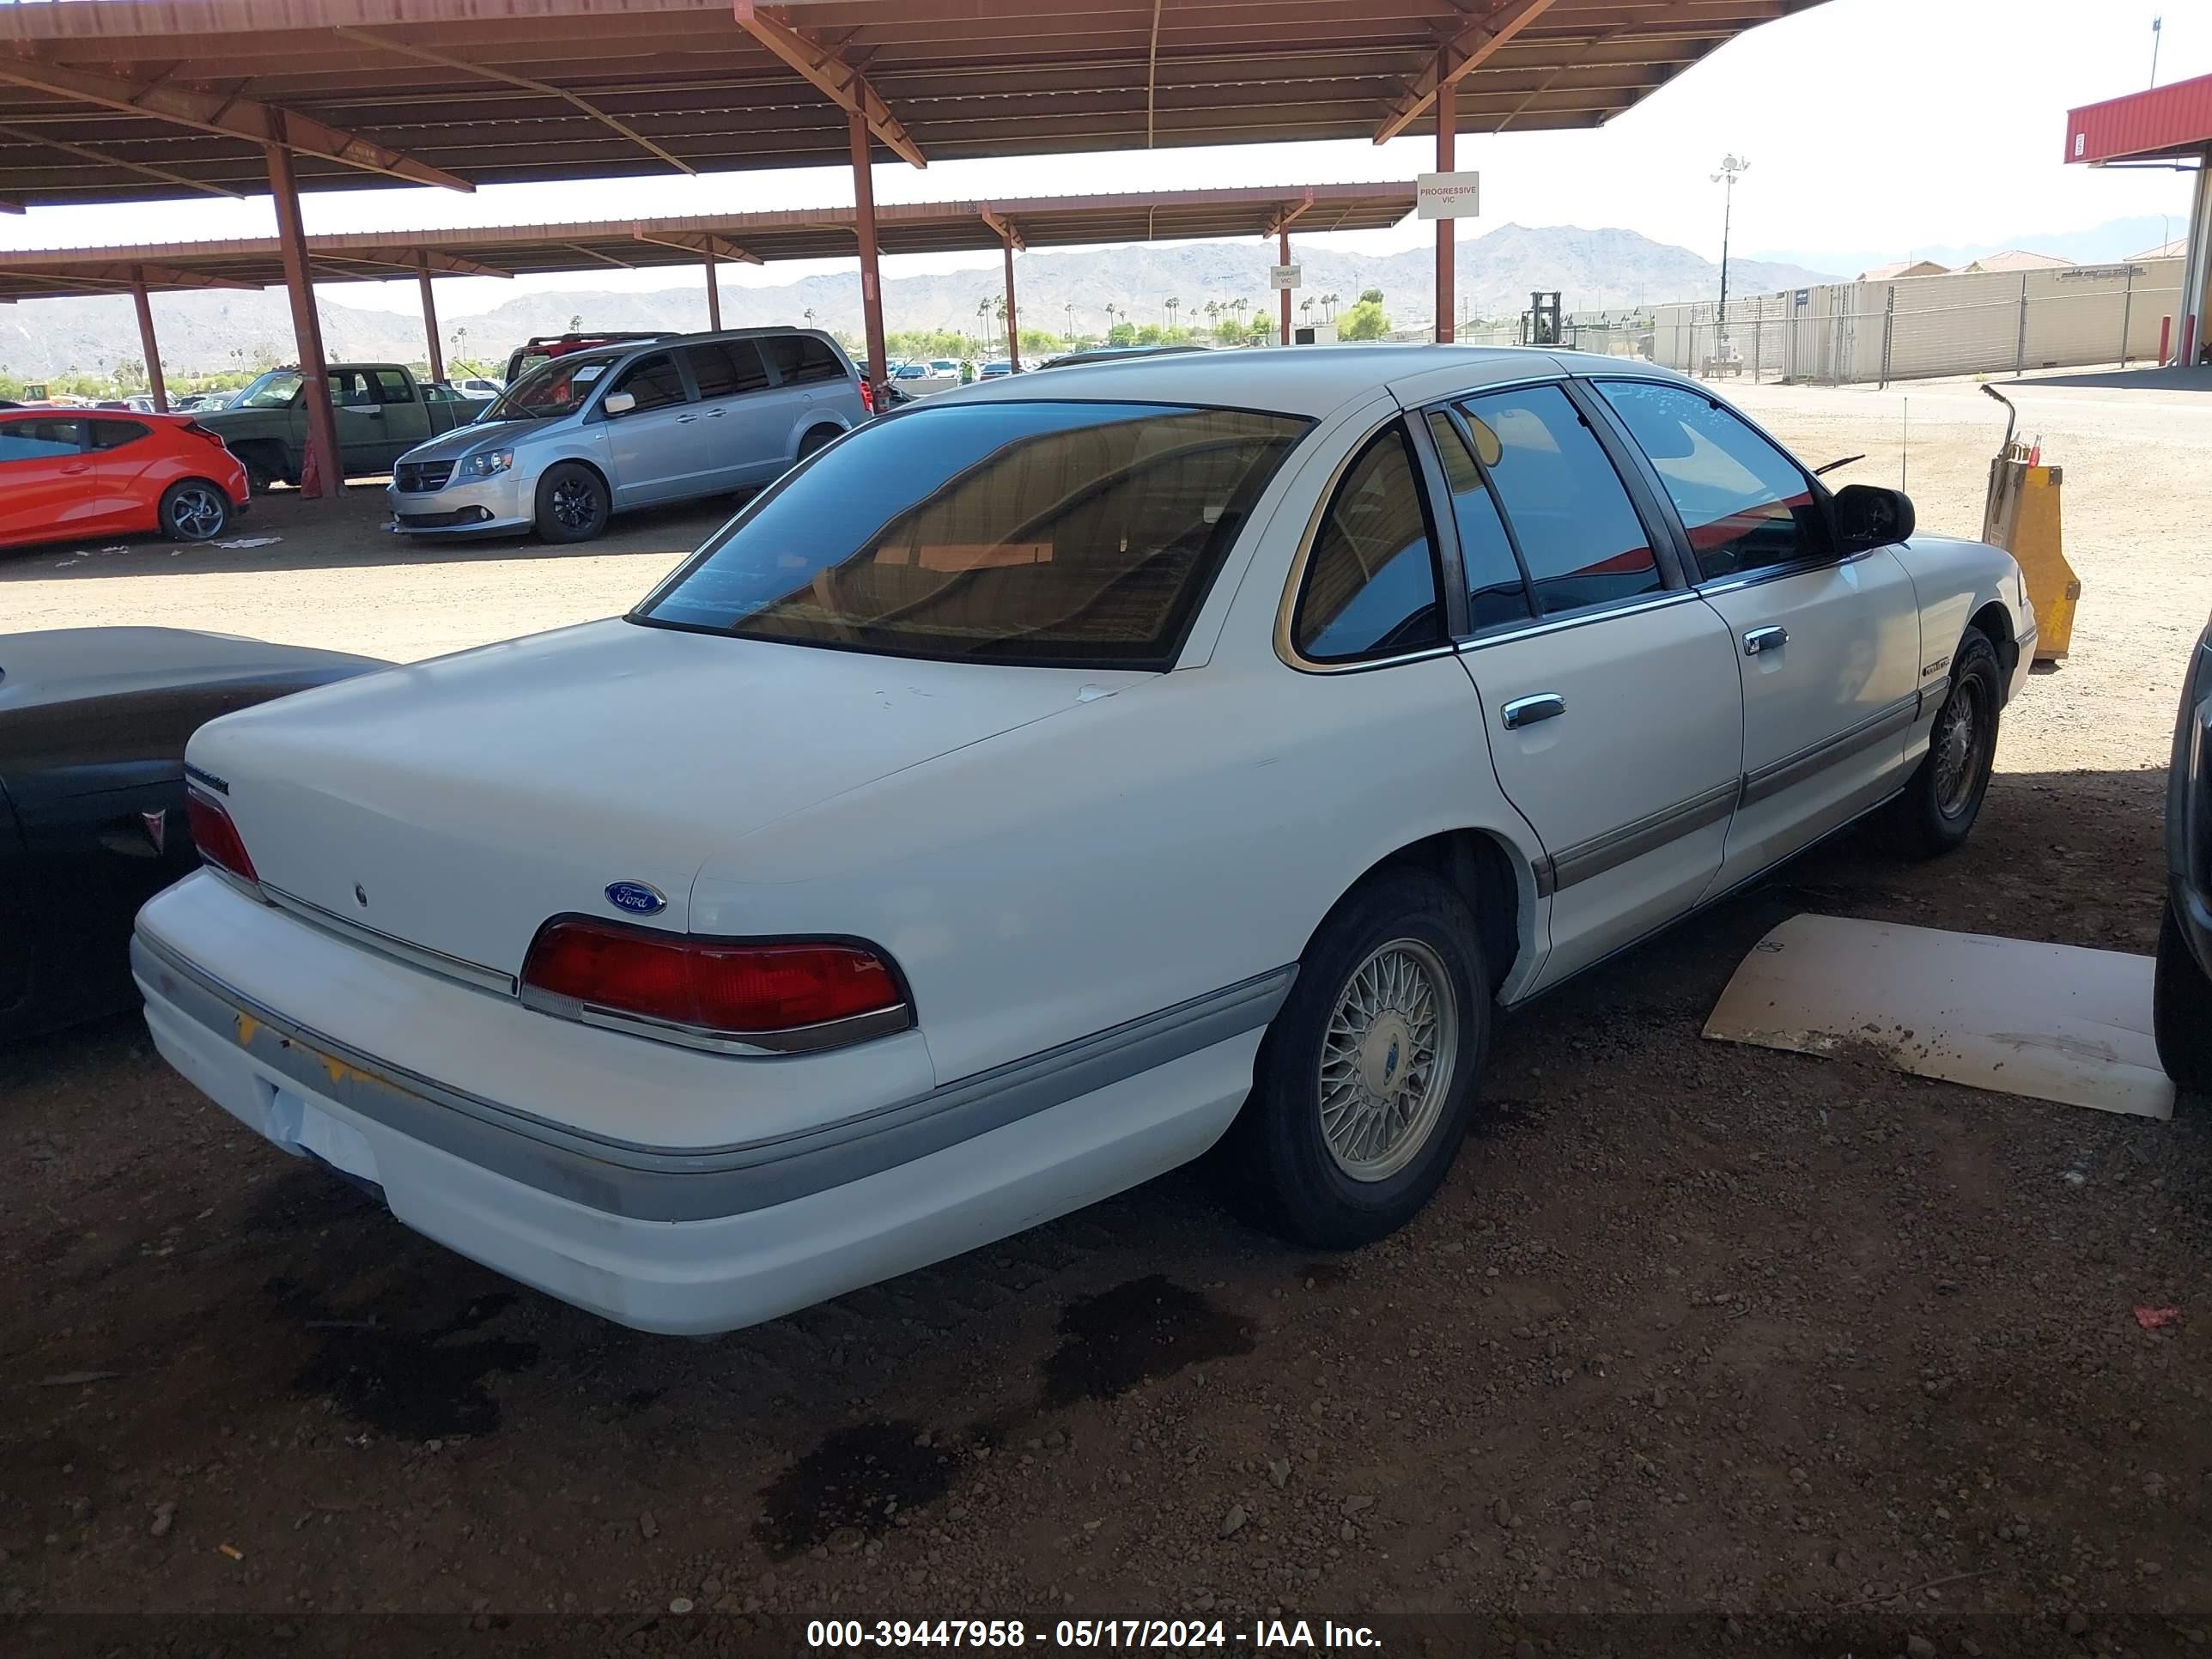
[[[1889,549],[1836,557],[1823,491],[1734,409],[1657,380],[1597,392],[1650,460],[1743,679],[1721,891],[1905,783],[1920,604]]]

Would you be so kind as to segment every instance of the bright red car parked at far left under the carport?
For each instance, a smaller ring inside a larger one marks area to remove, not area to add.
[[[243,462],[190,416],[0,409],[0,546],[144,531],[206,542],[246,502]]]

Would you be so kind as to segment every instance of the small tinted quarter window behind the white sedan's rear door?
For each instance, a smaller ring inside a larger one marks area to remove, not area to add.
[[[1444,639],[1436,546],[1413,447],[1391,422],[1336,487],[1305,566],[1292,641],[1314,661],[1385,657]]]

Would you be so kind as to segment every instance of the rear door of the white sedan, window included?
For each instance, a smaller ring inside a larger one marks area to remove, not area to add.
[[[1743,706],[1728,628],[1621,447],[1559,383],[1425,409],[1506,799],[1544,843],[1555,984],[1686,914],[1721,867]]]

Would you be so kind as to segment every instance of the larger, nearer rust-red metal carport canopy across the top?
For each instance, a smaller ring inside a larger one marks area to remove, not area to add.
[[[0,204],[1599,126],[1818,2],[0,4]]]

